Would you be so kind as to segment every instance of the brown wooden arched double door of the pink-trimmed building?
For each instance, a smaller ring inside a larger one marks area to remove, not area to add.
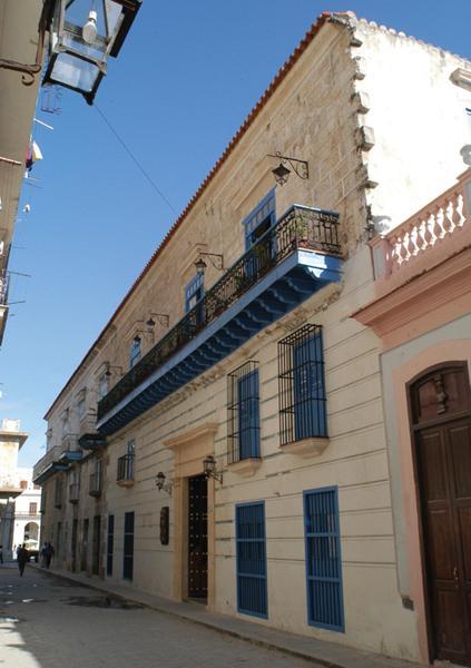
[[[432,659],[471,666],[471,406],[464,364],[411,386]]]

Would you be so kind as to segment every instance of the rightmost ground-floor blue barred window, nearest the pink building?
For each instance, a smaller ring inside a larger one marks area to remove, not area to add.
[[[337,488],[304,492],[307,621],[344,631]]]

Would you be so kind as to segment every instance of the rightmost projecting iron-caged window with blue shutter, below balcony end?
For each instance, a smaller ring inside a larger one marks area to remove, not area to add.
[[[281,444],[327,435],[322,327],[304,325],[278,343]]]

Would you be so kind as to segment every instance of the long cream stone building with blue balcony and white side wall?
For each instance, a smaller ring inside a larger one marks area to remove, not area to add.
[[[351,13],[313,24],[46,414],[60,568],[429,661],[382,344],[351,315],[377,289],[377,233],[462,170],[457,70]]]

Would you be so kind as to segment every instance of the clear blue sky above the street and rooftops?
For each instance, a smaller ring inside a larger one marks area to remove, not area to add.
[[[97,104],[180,212],[316,16],[347,9],[471,58],[470,0],[144,0]],[[0,352],[0,418],[30,433],[22,465],[42,456],[45,412],[175,219],[81,97],[65,91],[61,115],[39,118],[55,130],[36,131],[40,188],[23,187],[10,263],[32,278],[14,281],[10,298],[27,303]]]

